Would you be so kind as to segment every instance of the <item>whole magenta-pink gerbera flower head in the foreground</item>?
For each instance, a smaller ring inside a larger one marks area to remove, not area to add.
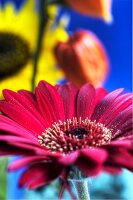
[[[67,180],[74,167],[86,177],[133,171],[132,95],[122,91],[45,81],[35,94],[4,90],[0,155],[23,156],[8,167],[26,167],[19,185],[34,189],[57,177]]]

